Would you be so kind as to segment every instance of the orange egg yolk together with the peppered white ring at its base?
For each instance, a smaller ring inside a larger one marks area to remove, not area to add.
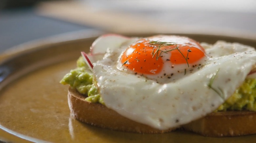
[[[140,39],[119,57],[119,70],[133,71],[157,83],[190,74],[204,63],[203,47],[187,37],[158,35]]]

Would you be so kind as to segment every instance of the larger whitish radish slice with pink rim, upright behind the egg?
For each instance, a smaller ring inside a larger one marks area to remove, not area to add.
[[[114,50],[117,47],[120,47],[120,45],[130,40],[131,38],[125,37],[118,34],[105,34],[100,37],[98,37],[90,47],[90,53],[92,55],[94,54],[105,54],[107,49]]]

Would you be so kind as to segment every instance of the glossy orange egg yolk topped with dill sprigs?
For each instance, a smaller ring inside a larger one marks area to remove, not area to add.
[[[142,74],[157,74],[165,64],[196,63],[205,56],[203,47],[195,40],[180,36],[155,36],[130,45],[121,56],[128,69]]]

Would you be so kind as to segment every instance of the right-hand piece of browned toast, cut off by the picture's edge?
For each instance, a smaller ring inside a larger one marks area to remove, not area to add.
[[[204,118],[183,125],[182,128],[211,137],[256,134],[256,112],[213,112]]]

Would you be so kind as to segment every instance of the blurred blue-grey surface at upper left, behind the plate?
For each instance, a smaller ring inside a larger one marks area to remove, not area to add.
[[[34,8],[0,11],[0,52],[13,46],[67,32],[92,29],[36,14]]]

